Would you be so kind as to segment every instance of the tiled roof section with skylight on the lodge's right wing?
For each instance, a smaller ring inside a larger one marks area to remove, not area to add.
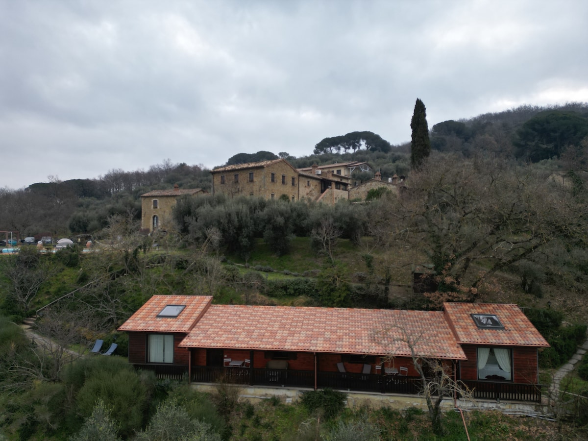
[[[459,343],[486,345],[548,347],[532,323],[517,305],[501,303],[445,303],[449,325],[455,330]],[[471,314],[493,314],[505,329],[480,329]]]

